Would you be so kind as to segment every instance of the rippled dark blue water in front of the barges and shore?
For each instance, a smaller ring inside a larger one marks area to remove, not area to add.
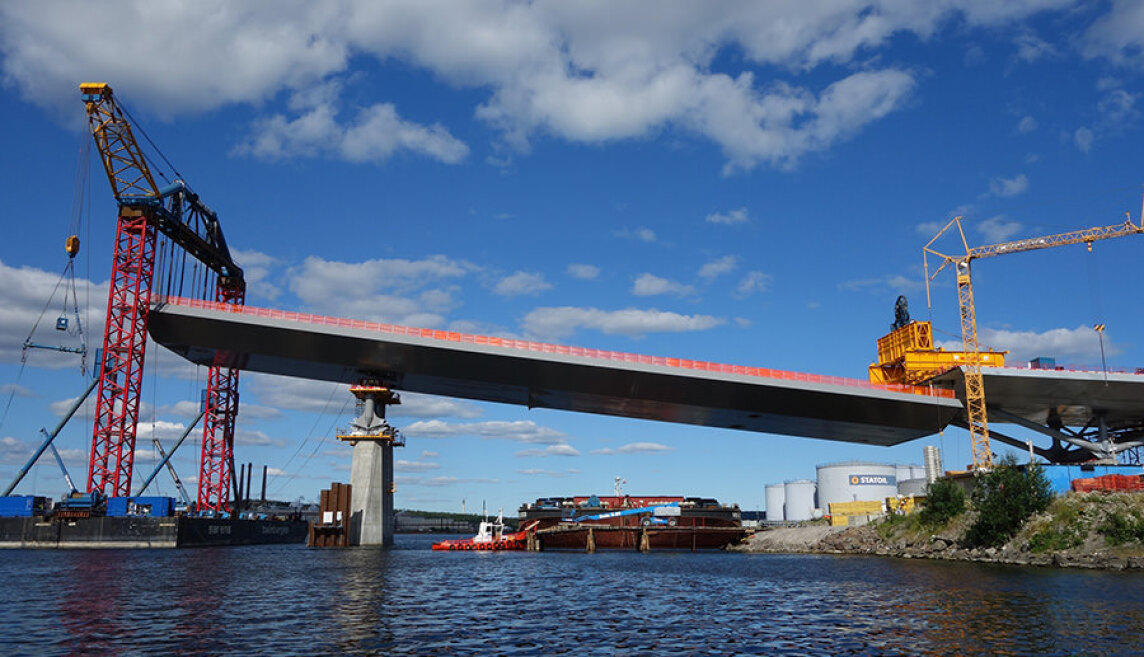
[[[432,540],[3,551],[0,655],[1144,654],[1133,572]]]

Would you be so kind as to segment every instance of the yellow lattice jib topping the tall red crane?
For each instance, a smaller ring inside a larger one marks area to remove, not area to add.
[[[159,197],[146,158],[135,141],[132,125],[116,103],[111,86],[84,82],[79,86],[87,108],[87,121],[108,173],[116,200]]]

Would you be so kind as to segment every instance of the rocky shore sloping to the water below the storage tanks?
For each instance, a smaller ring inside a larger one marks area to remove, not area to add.
[[[809,524],[764,529],[729,549],[747,553],[868,554],[1015,565],[1144,570],[1144,546],[1139,543],[1113,546],[1099,533],[1102,515],[1094,509],[1106,508],[1109,504],[1105,500],[1078,498],[1057,505],[1072,510],[1063,517],[1044,514],[1033,519],[1001,547],[964,546],[962,537],[964,528],[971,521],[970,516],[929,531],[885,520],[864,527]],[[1059,508],[1055,510],[1059,513]],[[1067,546],[1051,549],[1038,547],[1043,544],[1039,537],[1059,535],[1072,537]]]

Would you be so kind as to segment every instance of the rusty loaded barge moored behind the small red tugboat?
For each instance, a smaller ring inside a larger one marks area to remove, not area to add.
[[[721,549],[750,533],[738,505],[677,496],[541,498],[518,519],[533,549]]]

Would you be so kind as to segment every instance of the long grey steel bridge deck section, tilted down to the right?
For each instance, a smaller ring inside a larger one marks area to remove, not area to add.
[[[950,390],[174,298],[149,330],[199,364],[220,355],[270,374],[873,445],[935,434],[962,407]]]

